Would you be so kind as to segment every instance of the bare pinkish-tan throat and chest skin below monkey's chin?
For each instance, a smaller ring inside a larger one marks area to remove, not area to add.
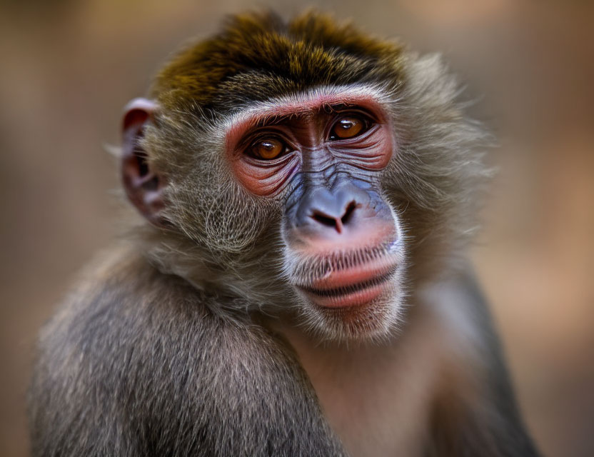
[[[271,323],[295,351],[349,455],[421,455],[446,349],[431,312],[416,305],[381,343],[321,343],[290,322]]]

